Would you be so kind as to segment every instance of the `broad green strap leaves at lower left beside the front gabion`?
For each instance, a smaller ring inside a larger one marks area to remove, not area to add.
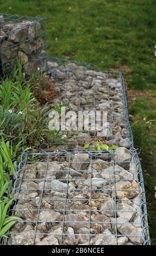
[[[21,220],[16,216],[7,215],[12,203],[13,199],[9,200],[8,198],[0,202],[0,237],[7,237],[5,235],[7,231],[16,223],[16,221]]]

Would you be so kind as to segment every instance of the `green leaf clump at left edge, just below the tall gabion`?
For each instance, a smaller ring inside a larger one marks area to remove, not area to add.
[[[0,102],[4,109],[13,107],[14,82],[6,78],[0,85]]]

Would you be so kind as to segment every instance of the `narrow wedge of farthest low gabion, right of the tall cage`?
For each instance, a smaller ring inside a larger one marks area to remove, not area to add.
[[[48,56],[48,72],[49,74],[54,74],[56,70],[61,72],[69,72],[69,71],[76,71],[76,70],[86,70],[90,69],[91,65],[85,62],[77,62],[70,59],[63,59],[57,57],[49,57]]]

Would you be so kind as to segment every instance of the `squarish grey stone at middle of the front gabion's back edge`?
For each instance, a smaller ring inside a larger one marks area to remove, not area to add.
[[[73,156],[72,168],[75,170],[85,170],[89,165],[89,155],[78,153]]]

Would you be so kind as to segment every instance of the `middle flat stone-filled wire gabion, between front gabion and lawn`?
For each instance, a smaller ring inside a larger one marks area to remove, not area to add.
[[[52,108],[64,102],[67,111],[107,112],[107,123],[103,124],[102,132],[95,129],[84,131],[79,126],[74,131],[61,132],[62,139],[55,141],[53,149],[95,149],[97,141],[107,145],[133,147],[133,136],[130,129],[124,80],[121,72],[101,70],[79,70],[61,72],[55,69],[52,74],[57,97]],[[91,121],[90,121],[91,125]],[[51,148],[52,149],[52,148]],[[98,149],[97,149],[98,150]]]

